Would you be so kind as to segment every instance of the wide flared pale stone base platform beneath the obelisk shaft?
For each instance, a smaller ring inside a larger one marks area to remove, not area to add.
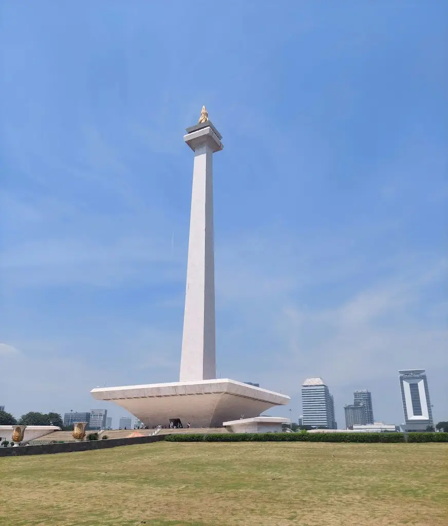
[[[290,398],[236,380],[216,379],[92,389],[96,400],[115,402],[146,426],[221,427],[223,422],[258,417]]]

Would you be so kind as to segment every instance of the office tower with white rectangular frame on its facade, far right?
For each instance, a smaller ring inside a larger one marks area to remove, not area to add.
[[[405,430],[424,431],[427,426],[434,425],[425,370],[403,369],[398,372]]]

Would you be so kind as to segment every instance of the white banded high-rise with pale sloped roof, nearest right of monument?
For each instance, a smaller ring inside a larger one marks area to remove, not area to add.
[[[303,426],[335,429],[334,402],[322,378],[307,378],[302,383]]]

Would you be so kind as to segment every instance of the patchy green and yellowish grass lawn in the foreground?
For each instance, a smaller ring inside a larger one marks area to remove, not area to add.
[[[8,526],[446,526],[448,444],[157,442],[0,458]]]

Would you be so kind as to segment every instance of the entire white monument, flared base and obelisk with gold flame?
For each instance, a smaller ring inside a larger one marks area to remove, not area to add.
[[[290,398],[216,378],[212,157],[223,145],[205,106],[198,124],[186,131],[184,140],[195,155],[179,381],[97,388],[91,394],[96,400],[117,403],[150,427],[178,420],[195,428],[221,427],[238,419],[246,425],[248,419],[256,419],[260,425],[263,419],[272,420],[260,417],[261,412],[286,405]]]

